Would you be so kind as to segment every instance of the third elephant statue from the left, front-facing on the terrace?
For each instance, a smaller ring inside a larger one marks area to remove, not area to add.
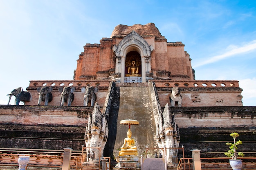
[[[71,106],[71,103],[73,102],[74,100],[74,94],[73,92],[76,90],[76,88],[74,87],[60,87],[58,88],[58,91],[59,92],[62,92],[61,93],[61,106],[64,105],[64,102],[67,102],[67,106]]]

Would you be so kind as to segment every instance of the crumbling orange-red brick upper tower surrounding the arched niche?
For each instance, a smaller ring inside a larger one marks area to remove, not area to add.
[[[116,56],[112,47],[132,31],[136,31],[148,45],[153,46],[150,73],[168,72],[168,75],[155,75],[153,79],[193,79],[191,60],[185,57],[184,44],[167,42],[153,23],[118,25],[110,38],[102,38],[100,44],[86,44],[77,60],[75,79],[107,79],[111,73],[115,73]],[[106,73],[103,74],[103,71]]]

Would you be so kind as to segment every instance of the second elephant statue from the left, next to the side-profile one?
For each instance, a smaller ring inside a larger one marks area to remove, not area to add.
[[[38,87],[36,90],[39,92],[38,106],[40,106],[41,101],[45,102],[45,106],[48,106],[48,102],[52,102],[52,87],[43,86],[42,88]]]

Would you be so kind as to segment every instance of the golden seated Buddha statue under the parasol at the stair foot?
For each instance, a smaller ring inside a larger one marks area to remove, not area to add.
[[[132,137],[132,132],[130,129],[127,132],[127,137],[124,139],[124,144],[121,147],[119,156],[124,155],[135,155],[138,156],[137,147],[135,146],[135,140]]]

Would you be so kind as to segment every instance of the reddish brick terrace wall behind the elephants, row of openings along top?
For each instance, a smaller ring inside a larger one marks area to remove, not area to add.
[[[156,72],[157,75],[157,72]],[[111,80],[31,80],[27,91],[31,93],[32,99],[30,102],[25,102],[25,105],[37,105],[38,92],[36,88],[43,86],[51,86],[53,88],[53,100],[48,106],[60,106],[61,92],[59,87],[72,86],[76,88],[74,92],[74,101],[71,106],[83,106],[84,93],[81,92],[82,87],[90,86],[97,87],[99,91],[96,93],[96,102],[100,107],[103,107],[106,100],[108,86]],[[162,107],[166,103],[170,104],[169,95],[173,87],[178,85],[182,94],[182,106],[243,106],[242,89],[239,88],[238,81],[229,80],[154,80],[159,95],[160,104]],[[60,84],[64,84],[60,86]],[[116,83],[117,86],[146,86],[148,83]],[[197,86],[195,86],[197,84]],[[214,86],[213,86],[214,85]],[[225,86],[224,86],[225,85]],[[41,105],[44,103],[42,102]],[[67,106],[67,103],[64,103]]]

